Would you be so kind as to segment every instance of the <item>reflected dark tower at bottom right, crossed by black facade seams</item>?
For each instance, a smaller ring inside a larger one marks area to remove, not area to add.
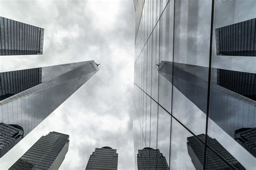
[[[205,134],[199,134],[197,137],[205,141]],[[216,139],[209,136],[207,136],[207,138],[208,146],[220,154],[226,162],[223,162],[217,155],[207,149],[205,169],[230,169],[230,167],[233,167],[232,169],[245,169]],[[191,136],[187,138],[187,151],[196,169],[203,169],[204,150],[204,144],[196,137]]]

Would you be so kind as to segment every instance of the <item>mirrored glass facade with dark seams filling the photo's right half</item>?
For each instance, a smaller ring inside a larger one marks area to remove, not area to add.
[[[151,147],[170,169],[253,169],[256,2],[134,0],[134,6],[136,168],[138,152]]]

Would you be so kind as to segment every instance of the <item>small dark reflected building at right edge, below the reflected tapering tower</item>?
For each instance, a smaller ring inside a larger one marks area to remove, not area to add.
[[[256,158],[256,128],[235,130],[234,138]]]

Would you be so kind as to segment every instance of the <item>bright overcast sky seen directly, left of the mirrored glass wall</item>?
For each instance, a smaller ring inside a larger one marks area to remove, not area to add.
[[[8,169],[50,131],[70,135],[60,169],[84,169],[90,154],[103,146],[117,149],[119,169],[134,169],[133,1],[0,0],[0,16],[45,29],[43,55],[1,56],[1,72],[100,63],[99,72],[0,159],[0,169]]]

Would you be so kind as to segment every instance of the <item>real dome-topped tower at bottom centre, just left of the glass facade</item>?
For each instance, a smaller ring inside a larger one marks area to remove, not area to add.
[[[104,146],[92,152],[85,169],[117,169],[117,161],[117,150]]]

